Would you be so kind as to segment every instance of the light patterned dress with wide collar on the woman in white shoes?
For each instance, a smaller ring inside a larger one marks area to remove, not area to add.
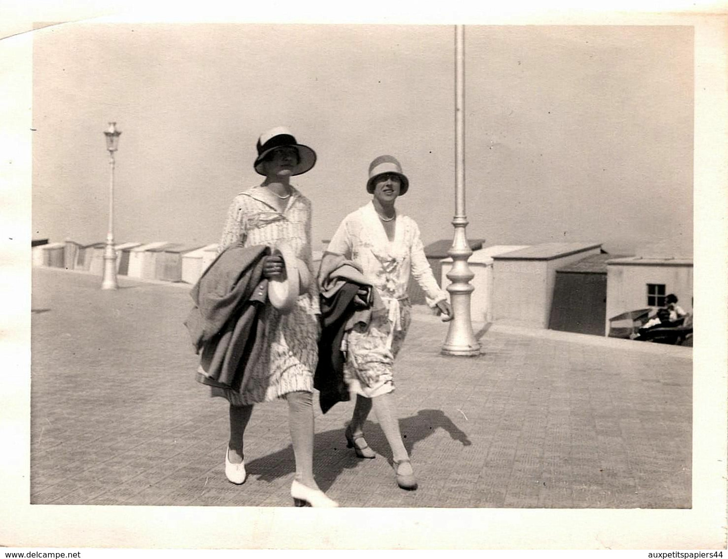
[[[234,243],[243,246],[266,245],[274,248],[288,243],[296,257],[312,271],[311,202],[291,187],[288,206],[280,212],[269,206],[253,187],[235,197],[230,206],[219,251]],[[313,376],[318,362],[319,301],[316,282],[301,294],[293,310],[280,313],[266,305],[264,313],[264,351],[250,371],[250,382],[239,394],[225,388],[212,388],[213,396],[223,396],[234,405],[269,402],[295,391],[313,391]]]

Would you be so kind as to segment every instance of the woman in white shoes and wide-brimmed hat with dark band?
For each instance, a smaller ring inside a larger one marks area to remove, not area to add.
[[[311,203],[298,192],[290,177],[309,171],[316,163],[316,154],[308,146],[298,144],[287,128],[269,130],[258,139],[258,156],[253,164],[264,176],[261,184],[240,193],[230,206],[220,251],[236,243],[243,246],[264,245],[283,249],[285,259],[274,253],[264,262],[263,275],[274,284],[296,262],[301,278],[312,275]],[[290,256],[287,256],[290,254]],[[298,273],[295,277],[298,278]],[[262,355],[252,365],[250,377],[242,392],[212,388],[213,396],[223,396],[230,402],[230,439],[225,454],[225,474],[240,484],[245,482],[243,434],[250,420],[253,404],[285,398],[288,401],[288,422],[293,453],[296,457],[296,477],[290,493],[296,504],[313,507],[336,507],[318,488],[313,477],[314,413],[312,405],[313,373],[318,359],[317,340],[320,327],[318,292],[315,282],[309,286],[301,281],[291,286],[297,297],[274,298],[277,292],[269,286],[266,305]],[[284,305],[285,308],[280,308]],[[277,308],[279,307],[279,308]],[[246,372],[246,374],[248,374]]]

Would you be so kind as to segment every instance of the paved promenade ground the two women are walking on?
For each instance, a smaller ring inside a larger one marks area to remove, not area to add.
[[[261,404],[248,480],[223,472],[227,404],[194,380],[189,286],[33,270],[31,503],[288,507],[285,402]],[[395,370],[419,489],[357,459],[352,403],[316,405],[314,470],[343,507],[691,506],[692,348],[494,326],[476,358],[440,355],[418,309]]]

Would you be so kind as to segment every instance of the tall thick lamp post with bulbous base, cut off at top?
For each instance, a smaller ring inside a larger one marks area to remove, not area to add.
[[[476,356],[480,354],[480,343],[475,340],[470,321],[470,294],[475,289],[470,280],[475,277],[467,265],[472,250],[465,236],[467,217],[465,216],[465,89],[464,89],[464,50],[465,31],[463,26],[455,26],[455,227],[453,245],[448,254],[453,259],[453,267],[447,274],[452,282],[448,285],[454,318],[450,321],[448,335],[442,353],[456,356]]]

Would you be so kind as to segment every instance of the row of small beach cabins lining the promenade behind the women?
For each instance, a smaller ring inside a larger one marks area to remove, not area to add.
[[[634,256],[607,254],[601,243],[540,243],[483,246],[469,241],[468,264],[475,288],[470,301],[473,320],[592,335],[622,336],[638,320],[676,294],[692,313],[692,258],[643,251]],[[314,251],[317,267],[322,250]],[[440,286],[447,286],[453,267],[451,241],[440,240],[424,251]],[[103,275],[105,243],[33,241],[33,265],[82,270]],[[217,257],[218,245],[121,243],[115,245],[118,275],[141,280],[193,285]],[[424,292],[410,282],[414,305]],[[622,324],[625,322],[625,324]],[[615,334],[617,332],[617,334]]]

